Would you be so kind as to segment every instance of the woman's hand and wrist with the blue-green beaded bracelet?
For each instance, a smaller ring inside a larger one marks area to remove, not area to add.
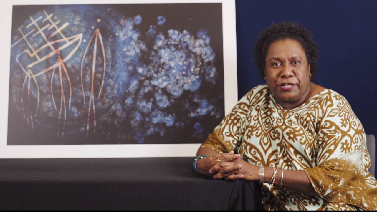
[[[220,159],[224,162],[231,162],[237,159],[240,159],[241,155],[234,154],[234,151],[230,151],[229,153],[217,153],[214,155],[208,155],[205,158],[199,159],[198,163],[196,163],[196,166],[198,167],[198,170],[201,174],[207,175],[207,176],[213,176],[216,173],[210,173],[210,169],[217,164],[217,160]],[[232,170],[235,171],[235,170]]]

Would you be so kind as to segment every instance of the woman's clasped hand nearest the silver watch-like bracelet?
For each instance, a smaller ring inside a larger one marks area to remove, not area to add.
[[[210,173],[216,173],[213,178],[225,180],[259,180],[259,167],[238,159],[232,162],[220,162],[210,169]]]

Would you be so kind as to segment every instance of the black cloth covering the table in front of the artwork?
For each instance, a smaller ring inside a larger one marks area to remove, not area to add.
[[[0,210],[261,209],[257,182],[213,180],[193,159],[0,159]]]

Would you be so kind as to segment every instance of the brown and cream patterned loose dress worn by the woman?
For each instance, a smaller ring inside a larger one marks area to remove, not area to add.
[[[377,181],[360,120],[339,93],[325,89],[285,110],[267,84],[251,89],[201,147],[236,149],[257,166],[305,170],[317,195],[262,188],[268,210],[376,210]]]

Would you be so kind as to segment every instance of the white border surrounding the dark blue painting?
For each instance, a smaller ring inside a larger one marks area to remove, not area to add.
[[[222,3],[225,114],[238,101],[234,0],[61,0],[56,4]],[[0,158],[194,157],[200,144],[7,145],[12,5],[50,5],[47,0],[13,0],[0,7]],[[205,138],[203,139],[203,141]]]

